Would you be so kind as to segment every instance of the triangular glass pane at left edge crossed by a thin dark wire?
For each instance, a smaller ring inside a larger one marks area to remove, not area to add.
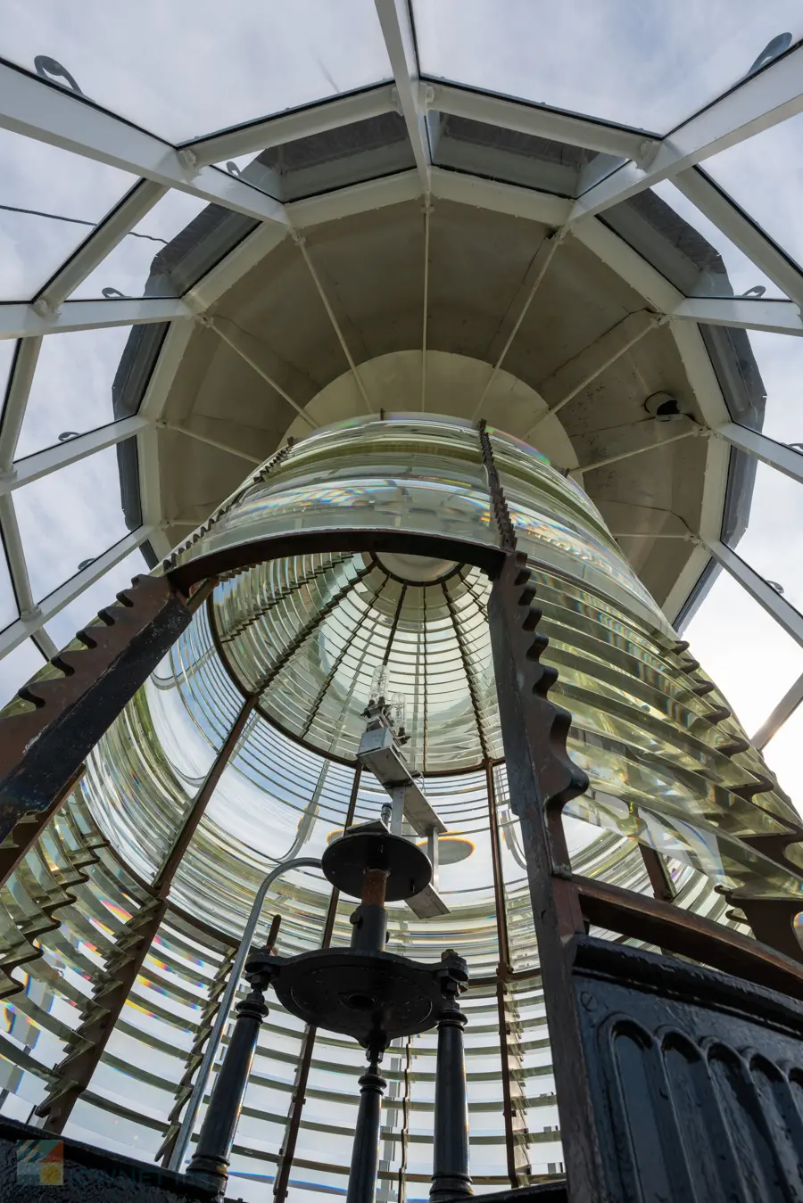
[[[7,29],[6,19],[4,35]],[[0,301],[26,301],[135,177],[7,130],[0,130]]]

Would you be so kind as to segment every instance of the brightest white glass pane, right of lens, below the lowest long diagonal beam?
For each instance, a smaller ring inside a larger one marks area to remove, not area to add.
[[[748,735],[757,730],[803,672],[803,648],[725,570],[714,581],[684,638]],[[745,669],[750,663],[761,664],[760,689]]]

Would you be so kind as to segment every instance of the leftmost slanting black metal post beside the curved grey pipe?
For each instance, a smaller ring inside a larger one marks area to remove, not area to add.
[[[273,948],[278,928],[279,917],[274,915],[266,948]],[[187,1177],[200,1186],[215,1191],[217,1199],[223,1198],[229,1181],[231,1146],[254,1061],[259,1029],[267,1015],[264,990],[270,978],[270,970],[250,974],[250,992],[237,1003],[237,1021],[231,1042],[209,1098],[197,1148],[187,1169]]]

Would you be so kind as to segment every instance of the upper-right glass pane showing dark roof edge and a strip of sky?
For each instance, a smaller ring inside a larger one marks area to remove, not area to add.
[[[614,205],[602,220],[675,288],[693,297],[784,294],[668,180]]]

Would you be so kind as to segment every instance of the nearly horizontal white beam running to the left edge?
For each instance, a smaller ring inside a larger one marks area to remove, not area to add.
[[[138,297],[124,301],[66,301],[59,309],[13,302],[0,304],[0,338],[39,338],[73,330],[142,326],[190,318],[194,310],[178,298]]]

